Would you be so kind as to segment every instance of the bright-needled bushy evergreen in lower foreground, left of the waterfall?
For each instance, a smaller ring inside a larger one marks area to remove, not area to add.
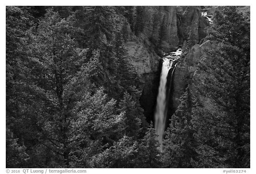
[[[78,114],[72,120],[70,139],[73,167],[92,167],[91,160],[123,136],[123,113],[116,113],[116,101],[108,101],[103,90],[100,88],[94,94],[87,91],[77,103]]]

